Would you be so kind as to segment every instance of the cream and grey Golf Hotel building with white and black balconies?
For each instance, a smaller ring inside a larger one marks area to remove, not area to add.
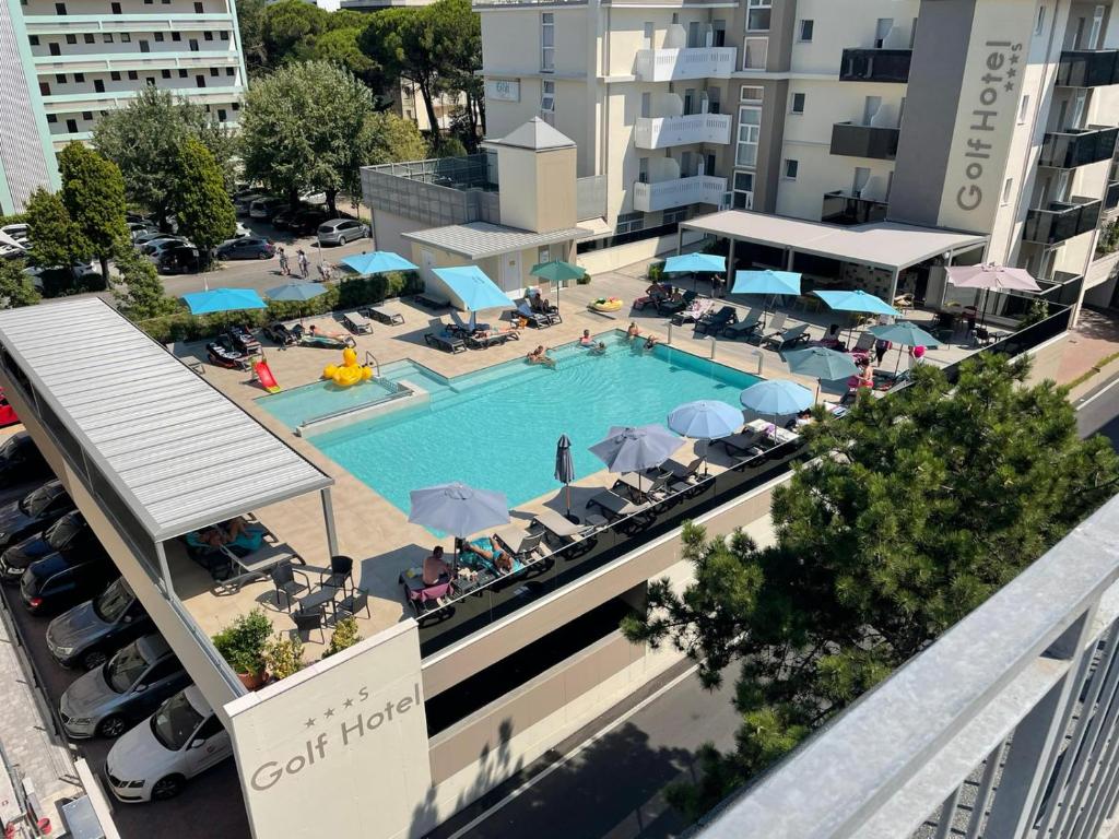
[[[539,114],[575,139],[614,242],[722,206],[981,233],[986,258],[1043,280],[1101,274],[1111,0],[474,8],[490,135]]]

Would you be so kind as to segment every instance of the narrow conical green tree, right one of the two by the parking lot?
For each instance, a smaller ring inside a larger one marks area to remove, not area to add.
[[[214,248],[237,232],[237,214],[225,179],[209,149],[188,136],[179,147],[175,214],[179,232],[189,238],[209,264]]]

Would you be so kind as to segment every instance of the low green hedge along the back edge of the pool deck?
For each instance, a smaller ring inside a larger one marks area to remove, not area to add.
[[[313,318],[333,311],[348,312],[360,307],[374,305],[389,298],[415,294],[421,290],[422,284],[416,272],[391,272],[331,283],[327,286],[326,294],[307,302],[271,302],[266,309],[219,314],[195,315],[184,311],[163,318],[137,321],[137,326],[160,343],[200,341],[222,334],[235,323],[263,327],[276,320]]]

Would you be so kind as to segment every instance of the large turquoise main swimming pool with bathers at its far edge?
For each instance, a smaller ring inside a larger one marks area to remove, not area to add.
[[[516,507],[558,489],[561,434],[571,437],[583,478],[603,469],[587,446],[611,425],[664,423],[692,399],[737,405],[759,380],[671,347],[634,350],[615,331],[600,338],[604,356],[568,345],[552,351],[555,369],[515,360],[444,379],[412,361],[386,365],[385,378],[419,385],[430,403],[308,440],[404,511],[410,490],[448,481],[505,492]]]

